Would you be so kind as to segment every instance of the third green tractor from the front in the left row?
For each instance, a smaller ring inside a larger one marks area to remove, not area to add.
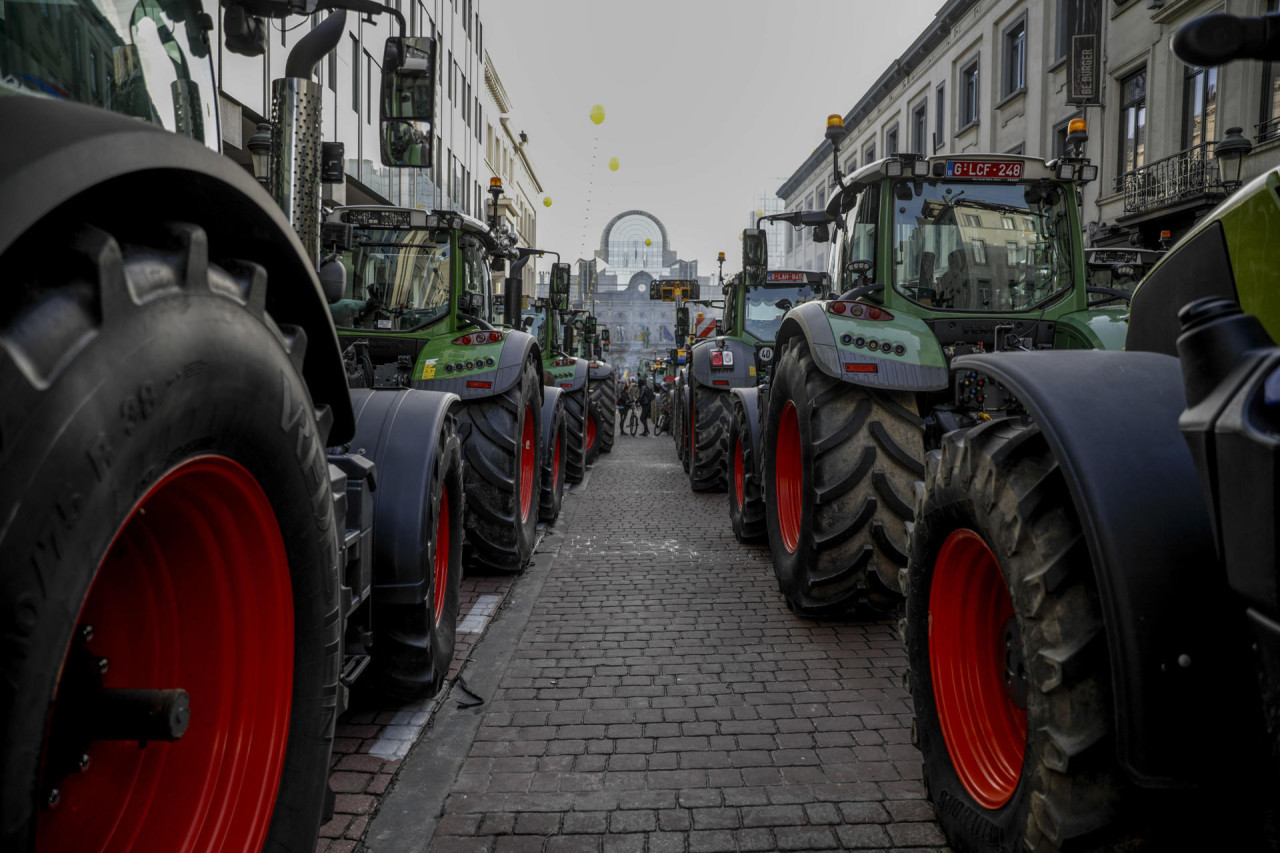
[[[538,298],[525,310],[521,323],[538,338],[543,352],[545,383],[564,394],[567,446],[564,479],[581,483],[586,466],[595,461],[593,452],[594,424],[591,418],[590,379],[586,359],[579,359],[564,342],[564,320],[568,313],[570,265],[552,264],[550,296]]]

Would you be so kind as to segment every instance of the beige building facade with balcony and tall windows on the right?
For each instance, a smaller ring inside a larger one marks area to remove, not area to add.
[[[1083,193],[1091,245],[1176,240],[1235,186],[1215,156],[1229,128],[1252,151],[1240,178],[1280,164],[1280,63],[1184,65],[1169,40],[1211,12],[1254,15],[1275,0],[1100,0],[1101,105],[1066,99],[1073,0],[947,0],[933,22],[845,114],[841,170],[897,152],[1064,154],[1068,122],[1089,127],[1100,167]],[[815,134],[822,118],[814,118]],[[835,187],[823,142],[778,188],[787,210],[818,209]],[[787,266],[823,269],[829,246],[792,229]]]

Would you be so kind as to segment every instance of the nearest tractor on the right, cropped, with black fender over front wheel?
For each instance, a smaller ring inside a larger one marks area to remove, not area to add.
[[[1280,56],[1277,33],[1217,14],[1172,46],[1212,67]],[[902,633],[957,853],[1275,849],[1276,223],[1271,170],[1147,273],[1124,351],[950,365]]]

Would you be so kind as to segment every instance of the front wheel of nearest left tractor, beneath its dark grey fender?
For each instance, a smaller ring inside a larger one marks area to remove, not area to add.
[[[378,393],[378,392],[375,392]],[[462,590],[465,485],[457,421],[444,419],[426,488],[430,539],[421,546],[428,596],[419,605],[374,599],[374,683],[387,695],[412,701],[435,695],[453,662]],[[375,555],[376,560],[376,555]]]

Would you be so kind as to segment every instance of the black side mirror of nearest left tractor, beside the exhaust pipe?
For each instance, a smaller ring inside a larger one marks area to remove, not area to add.
[[[435,40],[392,37],[383,47],[379,92],[383,165],[431,165],[435,126]]]

